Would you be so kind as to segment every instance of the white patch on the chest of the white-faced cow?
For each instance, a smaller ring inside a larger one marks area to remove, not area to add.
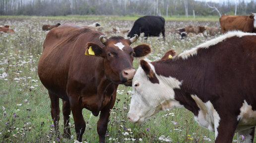
[[[202,127],[215,132],[215,140],[218,136],[219,121],[220,116],[218,112],[214,109],[210,101],[204,103],[196,95],[191,95],[192,99],[195,101],[196,105],[200,108],[197,116],[194,116],[195,121]]]

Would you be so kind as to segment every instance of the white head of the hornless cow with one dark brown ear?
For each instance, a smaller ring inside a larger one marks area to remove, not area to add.
[[[180,85],[175,78],[157,75],[149,61],[140,60],[140,67],[132,80],[129,121],[140,123],[166,108],[182,107],[174,99],[174,88],[180,88]]]

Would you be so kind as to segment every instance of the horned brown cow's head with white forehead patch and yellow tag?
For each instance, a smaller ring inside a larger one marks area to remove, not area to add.
[[[122,36],[107,38],[100,36],[100,41],[104,44],[100,47],[94,42],[86,45],[87,55],[94,55],[104,58],[104,72],[106,77],[114,83],[131,86],[135,70],[132,67],[134,57],[146,56],[151,52],[147,44],[140,44],[134,48],[130,44],[136,41],[138,36],[125,39]]]

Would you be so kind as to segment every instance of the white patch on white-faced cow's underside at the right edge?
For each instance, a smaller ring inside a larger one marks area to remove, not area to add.
[[[251,105],[248,105],[248,103],[244,101],[243,106],[240,108],[240,114],[237,116],[237,120],[239,121],[237,131],[256,126],[256,111],[252,108]]]

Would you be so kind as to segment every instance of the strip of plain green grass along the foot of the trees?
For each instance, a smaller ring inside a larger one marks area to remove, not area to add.
[[[126,16],[117,16],[117,15],[67,15],[67,16],[5,16],[0,15],[0,18],[18,18],[18,19],[64,19],[64,20],[131,20],[134,21],[141,17],[142,15],[126,15]],[[187,18],[185,15],[174,15],[174,16],[163,16],[167,21],[219,21],[218,16],[195,16],[189,15]]]

